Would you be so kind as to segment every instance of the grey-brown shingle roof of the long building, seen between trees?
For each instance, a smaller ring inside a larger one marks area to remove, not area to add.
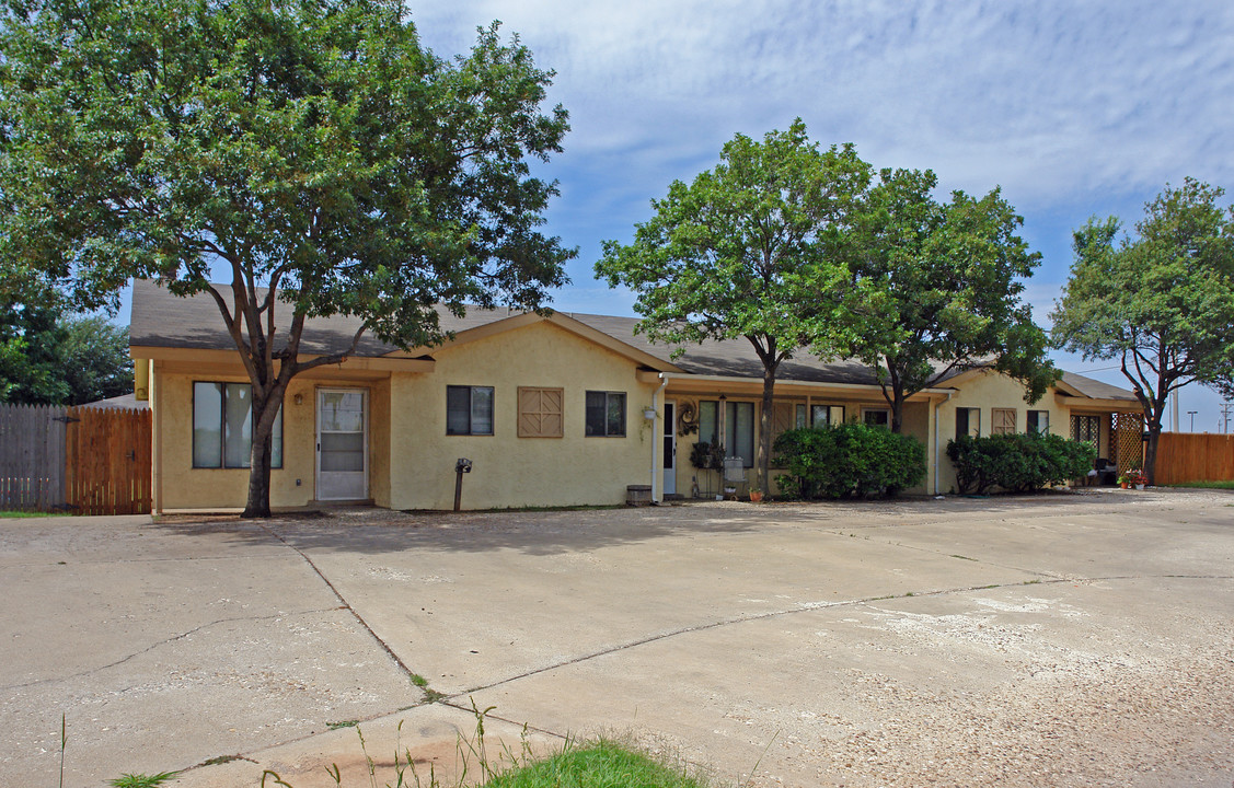
[[[215,285],[230,301],[230,289]],[[264,291],[260,293],[264,295]],[[511,317],[506,310],[470,308],[465,317],[454,317],[444,308],[438,310],[442,328],[462,333]],[[655,344],[645,335],[636,333],[637,318],[610,314],[561,313],[595,330],[608,334],[665,365],[673,364],[692,375],[717,375],[726,377],[763,377],[763,364],[744,339],[705,342],[686,345],[684,353],[673,358],[674,345]],[[306,322],[301,350],[306,354],[326,355],[342,353],[350,347],[352,337],[360,327],[354,317],[311,318]],[[232,349],[231,337],[223,328],[215,301],[206,295],[189,298],[173,296],[153,281],[133,282],[133,312],[130,326],[131,344],[155,348]],[[355,355],[380,356],[395,351],[394,345],[365,335]],[[959,371],[953,372],[958,375]],[[948,375],[950,377],[951,375]],[[808,353],[800,353],[780,365],[776,377],[784,381],[817,384],[856,384],[875,386],[874,371],[859,361],[822,361]],[[1106,400],[1134,398],[1130,392],[1108,386],[1081,375],[1067,374],[1064,380],[1086,396]],[[1080,382],[1072,382],[1080,381]]]

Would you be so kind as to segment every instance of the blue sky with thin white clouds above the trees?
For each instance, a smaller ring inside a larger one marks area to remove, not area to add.
[[[1090,216],[1133,224],[1187,175],[1234,189],[1234,4],[851,0],[449,0],[412,2],[422,41],[464,52],[501,20],[557,70],[570,111],[549,231],[579,247],[561,311],[633,314],[592,279],[600,242],[633,237],[674,179],[710,169],[742,132],[806,121],[875,166],[930,168],[940,189],[1001,186],[1043,261],[1038,322],[1066,281]],[[1066,369],[1111,363],[1065,354]],[[1119,384],[1117,371],[1093,377]],[[1180,409],[1215,429],[1220,398],[1188,386]]]

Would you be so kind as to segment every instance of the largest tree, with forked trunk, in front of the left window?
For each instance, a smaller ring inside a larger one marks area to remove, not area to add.
[[[531,158],[568,122],[552,73],[481,30],[423,48],[399,0],[4,0],[0,281],[106,301],[132,276],[205,293],[252,382],[246,514],[269,514],[270,434],[305,319],[397,347],[434,303],[536,308],[574,253],[539,232]],[[211,271],[227,282],[211,286]]]

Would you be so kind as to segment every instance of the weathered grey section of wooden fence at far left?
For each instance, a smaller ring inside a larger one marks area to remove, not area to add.
[[[64,506],[65,411],[0,404],[0,509],[51,512]]]

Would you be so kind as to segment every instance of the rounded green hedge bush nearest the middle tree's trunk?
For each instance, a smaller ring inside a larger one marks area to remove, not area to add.
[[[792,498],[893,496],[926,478],[926,446],[859,422],[789,429],[775,440],[781,495]]]

